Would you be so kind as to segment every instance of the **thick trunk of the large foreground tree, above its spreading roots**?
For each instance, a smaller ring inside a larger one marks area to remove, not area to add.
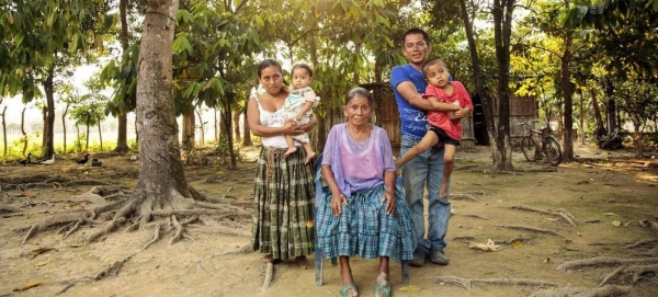
[[[137,76],[141,158],[139,180],[132,196],[133,202],[143,202],[139,212],[143,215],[172,205],[177,197],[173,192],[191,196],[181,162],[172,89],[171,53],[178,7],[178,0],[150,0],[144,19]]]

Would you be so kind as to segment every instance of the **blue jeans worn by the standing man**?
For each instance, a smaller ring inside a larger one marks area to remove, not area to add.
[[[407,150],[420,142],[419,137],[402,135],[400,153],[405,155]],[[426,152],[413,158],[402,165],[402,178],[407,204],[411,209],[411,220],[416,236],[418,237],[417,252],[428,254],[431,250],[441,250],[447,244],[445,233],[447,232],[447,222],[450,219],[450,202],[447,198],[439,198],[441,180],[443,179],[443,148],[430,148]],[[429,205],[429,228],[424,228],[424,189],[428,189]],[[450,185],[449,185],[450,192]],[[427,233],[427,238],[426,238]]]

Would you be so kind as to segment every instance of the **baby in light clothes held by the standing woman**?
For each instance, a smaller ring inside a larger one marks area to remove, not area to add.
[[[310,119],[313,107],[317,106],[318,101],[320,101],[320,98],[308,87],[313,79],[313,70],[306,64],[297,64],[293,66],[292,76],[291,95],[285,100],[283,108],[287,118],[295,121],[299,125],[306,125]],[[315,158],[316,153],[313,147],[310,147],[310,139],[308,139],[308,134],[306,133],[297,136],[285,135],[288,149],[283,156],[287,157],[297,151],[293,138],[299,141],[304,150],[306,150],[306,160],[304,163],[307,164]]]

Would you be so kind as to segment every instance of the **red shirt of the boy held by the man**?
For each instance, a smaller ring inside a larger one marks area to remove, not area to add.
[[[470,95],[458,81],[451,81],[453,85],[452,95],[447,95],[445,91],[441,88],[436,88],[432,84],[429,84],[426,89],[426,95],[435,96],[441,102],[451,103],[458,105],[462,108],[469,108],[473,111],[473,102],[470,102]],[[428,123],[434,127],[438,127],[445,132],[450,138],[455,140],[462,140],[462,124],[453,123],[450,117],[447,117],[446,112],[428,112]]]

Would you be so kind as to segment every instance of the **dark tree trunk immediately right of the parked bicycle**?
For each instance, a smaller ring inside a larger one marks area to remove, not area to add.
[[[565,9],[569,10],[569,0],[564,0]],[[571,132],[574,129],[574,98],[571,91],[571,72],[569,71],[569,62],[571,61],[571,44],[574,38],[571,32],[565,34],[564,52],[559,59],[560,61],[560,87],[563,99],[565,101],[564,125],[563,125],[563,161],[574,159],[574,141]]]

